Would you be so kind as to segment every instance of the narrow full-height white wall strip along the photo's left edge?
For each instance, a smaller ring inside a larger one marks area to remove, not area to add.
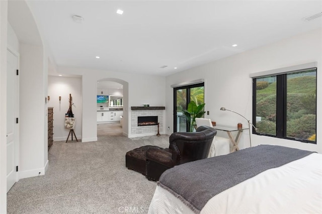
[[[0,1],[0,213],[7,213],[7,13]]]

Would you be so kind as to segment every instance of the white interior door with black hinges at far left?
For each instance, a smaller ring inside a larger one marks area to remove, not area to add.
[[[18,181],[18,56],[7,51],[7,192]]]

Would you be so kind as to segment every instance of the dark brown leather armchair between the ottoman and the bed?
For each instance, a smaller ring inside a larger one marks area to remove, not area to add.
[[[216,129],[209,126],[200,126],[197,132],[171,134],[169,149],[147,149],[145,176],[156,181],[164,171],[175,165],[206,158],[216,134]]]

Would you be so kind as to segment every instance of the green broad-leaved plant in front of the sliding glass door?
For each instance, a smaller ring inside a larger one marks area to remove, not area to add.
[[[196,118],[202,117],[206,112],[203,110],[205,103],[197,106],[194,101],[190,101],[187,110],[182,110],[186,116],[189,132],[193,132],[196,125]]]

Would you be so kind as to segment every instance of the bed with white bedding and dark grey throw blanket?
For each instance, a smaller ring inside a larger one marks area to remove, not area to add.
[[[322,154],[259,145],[175,166],[148,213],[322,213]]]

